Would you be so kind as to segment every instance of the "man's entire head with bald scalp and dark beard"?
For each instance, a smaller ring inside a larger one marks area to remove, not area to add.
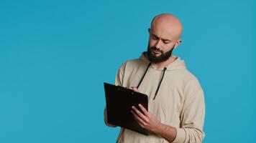
[[[147,57],[150,62],[159,66],[170,64],[173,61],[173,49],[181,43],[182,24],[180,20],[171,14],[157,15],[152,19],[149,33]]]

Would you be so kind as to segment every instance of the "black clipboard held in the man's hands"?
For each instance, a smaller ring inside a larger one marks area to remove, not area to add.
[[[106,97],[106,114],[109,124],[114,124],[119,127],[124,127],[148,135],[149,131],[140,127],[131,113],[132,106],[140,109],[138,104],[142,104],[145,109],[148,109],[147,95],[105,82],[104,89]]]

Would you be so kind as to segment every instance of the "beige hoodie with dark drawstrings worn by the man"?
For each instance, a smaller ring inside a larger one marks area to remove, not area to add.
[[[138,90],[148,95],[148,111],[162,124],[176,127],[177,136],[174,142],[202,142],[205,137],[203,132],[204,92],[196,77],[186,69],[185,62],[179,57],[176,58],[173,63],[166,66],[164,71],[164,68],[155,69],[149,66],[150,61],[142,54],[140,59],[122,64],[116,74],[115,84],[122,87],[137,87],[142,79]],[[144,74],[145,77],[142,78]],[[163,80],[160,83],[161,78]],[[155,96],[158,86],[159,90]],[[155,134],[145,136],[122,128],[116,142],[168,141]]]

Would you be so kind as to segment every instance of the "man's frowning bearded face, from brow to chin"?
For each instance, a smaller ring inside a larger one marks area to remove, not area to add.
[[[166,61],[172,56],[173,49],[175,47],[175,41],[165,34],[166,37],[161,37],[149,29],[150,40],[147,46],[147,56],[152,63],[160,63]]]

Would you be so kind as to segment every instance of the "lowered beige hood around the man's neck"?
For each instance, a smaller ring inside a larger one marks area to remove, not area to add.
[[[186,69],[185,61],[180,59],[180,57],[178,57],[178,56],[174,56],[174,57],[175,57],[175,61],[168,64],[168,66],[165,66],[166,71],[173,71],[173,70],[177,70],[177,69]],[[150,60],[147,59],[147,51],[144,51],[142,53],[142,55],[140,56],[140,59],[142,61],[147,62],[148,64],[150,63]],[[156,69],[154,66],[152,66],[153,69],[160,70],[160,71],[162,71],[165,67],[160,68],[160,69]]]

